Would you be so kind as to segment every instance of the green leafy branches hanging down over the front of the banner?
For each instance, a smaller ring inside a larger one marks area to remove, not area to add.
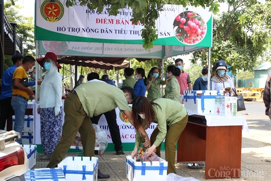
[[[73,6],[76,2],[79,1],[80,5],[86,5],[89,10],[94,10],[97,8],[98,12],[102,12],[104,6],[108,6],[107,11],[109,12],[108,16],[116,16],[120,11],[120,9],[130,7],[132,9],[132,18],[130,19],[135,24],[142,24],[144,28],[142,29],[142,40],[144,42],[143,47],[145,49],[153,48],[153,41],[158,37],[155,34],[157,30],[155,27],[155,20],[157,20],[159,16],[159,12],[163,11],[164,4],[175,4],[175,5],[183,5],[183,7],[187,5],[192,6],[202,6],[208,7],[209,11],[213,11],[214,14],[219,11],[218,2],[224,2],[225,0],[65,0],[65,5],[67,7]]]

